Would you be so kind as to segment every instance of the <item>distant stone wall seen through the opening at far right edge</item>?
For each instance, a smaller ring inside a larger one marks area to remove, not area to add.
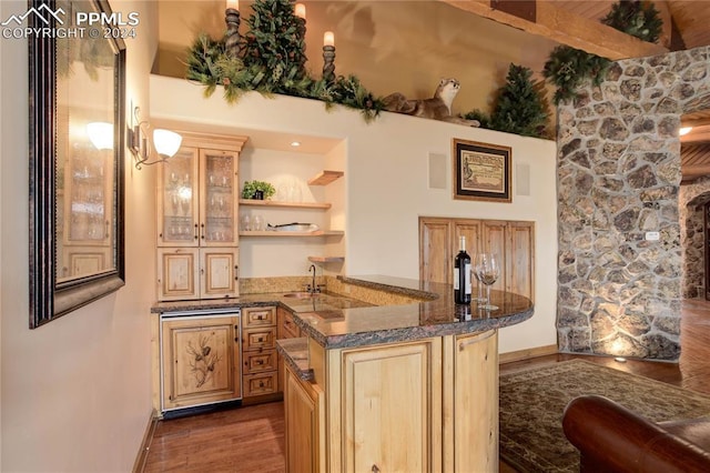
[[[710,202],[710,177],[680,187],[680,245],[683,249],[683,298],[699,298],[704,286],[704,205]]]

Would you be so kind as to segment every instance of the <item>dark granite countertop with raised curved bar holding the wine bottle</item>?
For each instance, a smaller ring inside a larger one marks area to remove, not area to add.
[[[474,302],[456,305],[448,284],[382,275],[338,276],[346,284],[394,292],[422,300],[400,305],[373,305],[341,294],[286,298],[284,293],[244,294],[235,299],[161,302],[154,313],[229,310],[282,305],[294,313],[304,335],[326,349],[362,346],[477,333],[515,325],[532,316],[532,302],[518,294],[490,291],[498,310],[485,311]]]

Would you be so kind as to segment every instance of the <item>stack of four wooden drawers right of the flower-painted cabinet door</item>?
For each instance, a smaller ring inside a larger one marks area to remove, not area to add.
[[[244,400],[277,395],[276,308],[245,308],[242,320]]]

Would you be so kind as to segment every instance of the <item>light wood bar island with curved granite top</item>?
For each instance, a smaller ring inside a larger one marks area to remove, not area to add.
[[[286,471],[497,471],[498,329],[531,318],[531,301],[491,291],[499,309],[485,311],[447,284],[338,279],[419,302],[293,312],[303,336],[277,343]]]

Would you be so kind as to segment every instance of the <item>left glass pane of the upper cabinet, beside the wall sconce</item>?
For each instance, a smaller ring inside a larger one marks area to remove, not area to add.
[[[181,149],[163,165],[163,241],[186,242],[195,235],[193,194],[195,152]]]

